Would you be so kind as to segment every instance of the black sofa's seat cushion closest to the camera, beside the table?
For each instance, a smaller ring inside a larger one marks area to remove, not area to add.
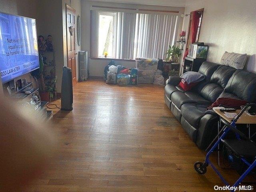
[[[208,105],[200,105],[200,104],[183,104],[181,106],[180,112],[182,117],[194,128],[198,128],[199,122],[204,116],[204,112],[206,112]]]

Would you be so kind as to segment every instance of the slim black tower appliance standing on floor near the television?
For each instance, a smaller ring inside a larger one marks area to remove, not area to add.
[[[68,67],[63,67],[61,84],[61,110],[73,110],[72,72]]]

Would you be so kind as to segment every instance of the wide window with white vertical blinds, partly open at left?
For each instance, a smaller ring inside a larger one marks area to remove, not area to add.
[[[91,10],[91,17],[91,57],[165,58],[177,38],[177,15]]]

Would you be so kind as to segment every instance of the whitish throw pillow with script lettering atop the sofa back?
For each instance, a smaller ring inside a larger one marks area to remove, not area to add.
[[[229,53],[225,51],[220,60],[220,64],[230,66],[236,69],[243,69],[246,60],[247,54]]]

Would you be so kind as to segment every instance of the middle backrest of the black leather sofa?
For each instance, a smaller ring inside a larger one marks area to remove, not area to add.
[[[209,82],[198,90],[199,94],[206,100],[211,102],[216,101],[235,71],[236,69],[230,66],[218,65],[218,68],[210,77]]]

